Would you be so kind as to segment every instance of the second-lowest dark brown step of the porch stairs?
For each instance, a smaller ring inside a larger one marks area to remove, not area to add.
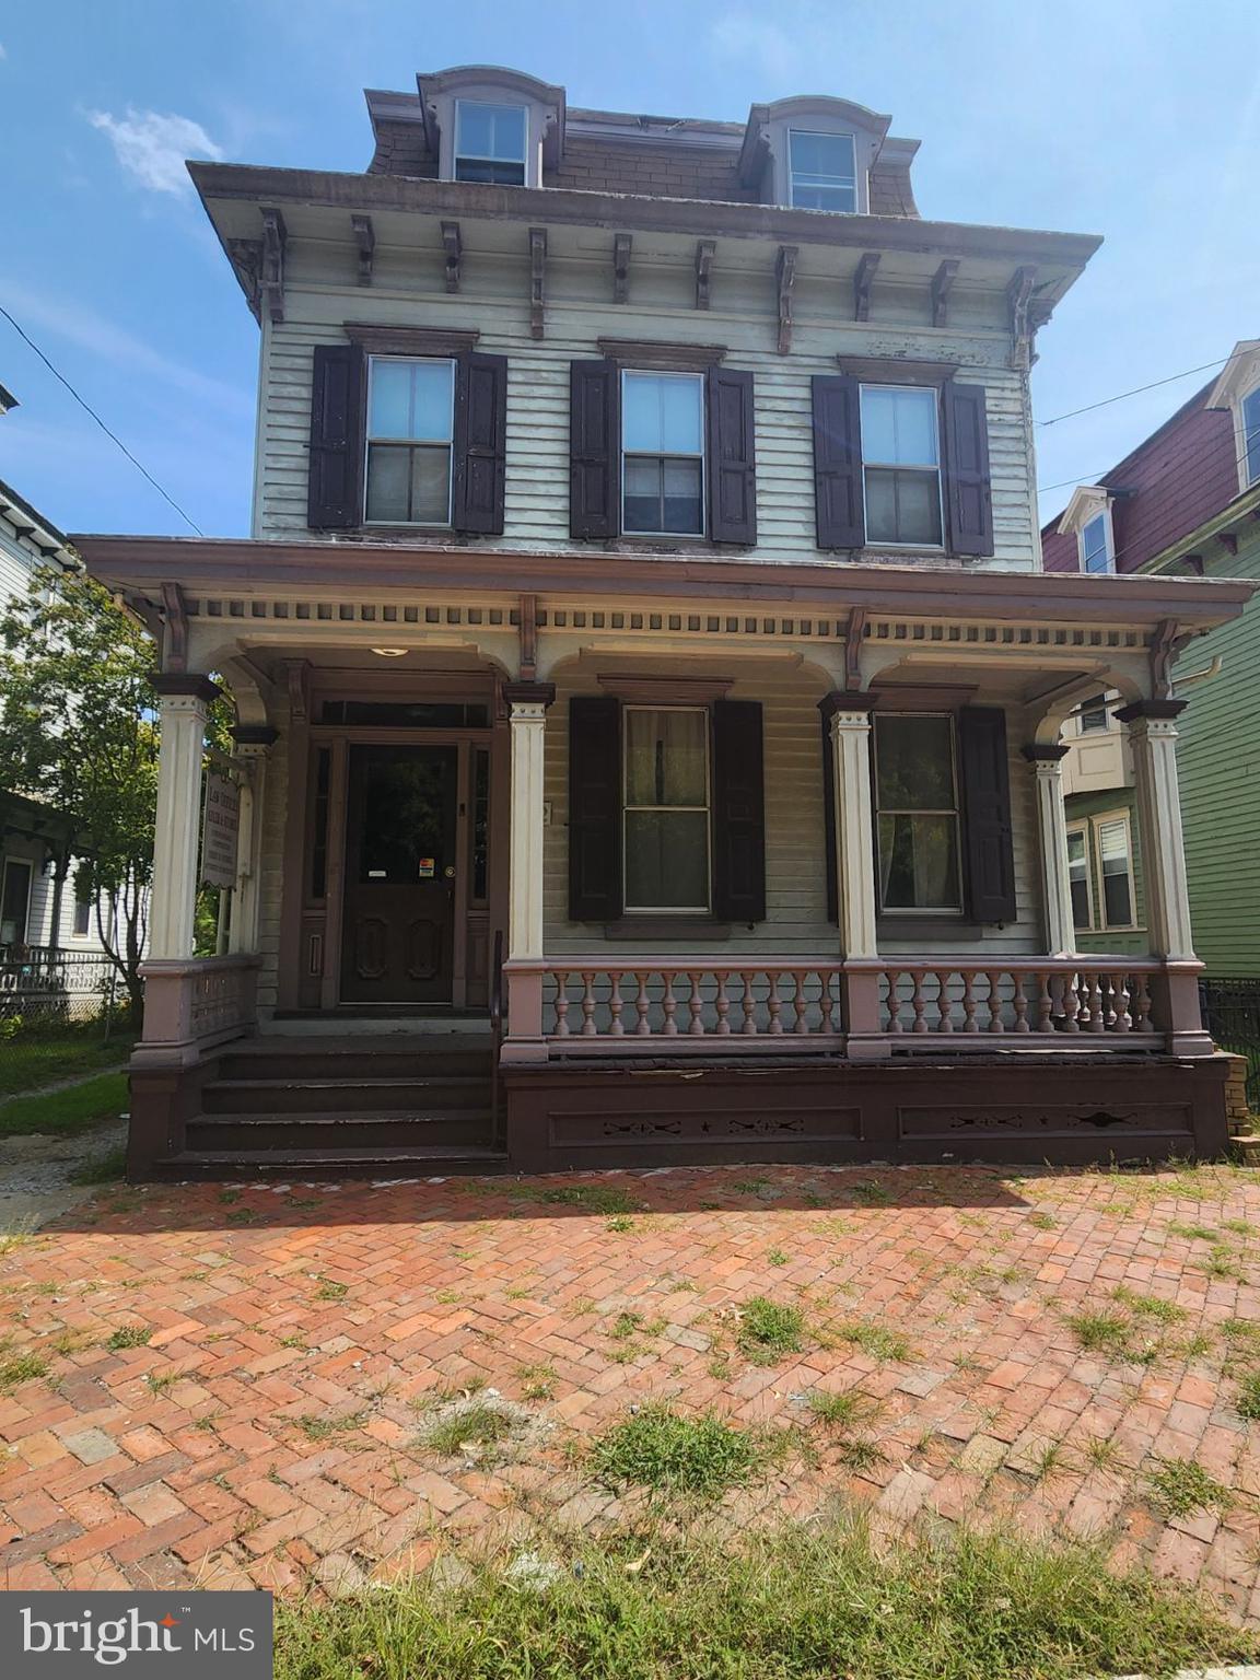
[[[378,1107],[375,1110],[326,1110],[277,1114],[198,1114],[188,1121],[188,1149],[465,1149],[484,1147],[491,1137],[487,1107]]]

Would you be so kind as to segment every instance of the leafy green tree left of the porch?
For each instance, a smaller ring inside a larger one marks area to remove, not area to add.
[[[66,820],[54,897],[79,857],[136,1020],[158,808],[153,664],[144,630],[82,571],[40,568],[0,617],[0,786]]]

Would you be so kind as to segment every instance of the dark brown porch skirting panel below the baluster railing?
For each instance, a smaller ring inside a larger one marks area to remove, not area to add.
[[[1221,1055],[1013,1052],[884,1062],[521,1063],[504,1068],[524,1173],[717,1161],[1060,1166],[1211,1158]]]

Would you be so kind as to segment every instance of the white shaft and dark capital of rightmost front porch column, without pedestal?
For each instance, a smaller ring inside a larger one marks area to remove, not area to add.
[[[1151,954],[1173,961],[1194,961],[1174,722],[1184,709],[1184,701],[1136,701],[1116,714],[1132,746]]]

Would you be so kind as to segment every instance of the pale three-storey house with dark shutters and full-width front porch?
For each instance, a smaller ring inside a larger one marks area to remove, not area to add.
[[[262,333],[252,536],[76,539],[161,645],[133,1176],[1223,1146],[1169,647],[1252,585],[1042,571],[1028,368],[1099,240],[921,217],[840,97],[366,97],[365,173],[190,165]],[[1149,937],[1084,956],[1104,690]]]

